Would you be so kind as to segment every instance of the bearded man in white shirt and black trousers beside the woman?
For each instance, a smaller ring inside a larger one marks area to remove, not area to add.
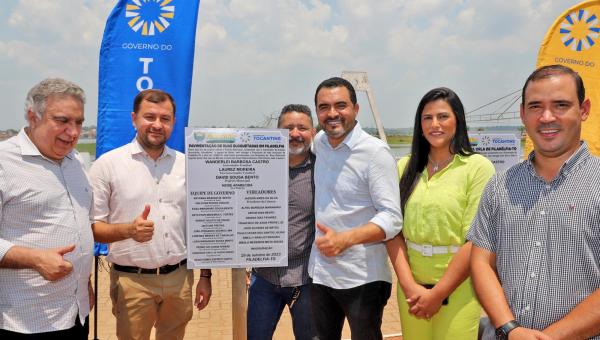
[[[314,142],[317,234],[309,264],[317,335],[340,339],[347,318],[352,339],[381,339],[392,282],[383,241],[402,228],[396,162],[356,121],[348,81],[323,81],[315,106],[323,128]]]

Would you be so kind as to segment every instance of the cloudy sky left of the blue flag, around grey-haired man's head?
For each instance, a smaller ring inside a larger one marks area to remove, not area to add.
[[[12,1],[0,24],[0,83],[8,105],[0,128],[22,124],[22,99],[33,84],[59,76],[87,92],[86,123],[95,123],[98,50],[112,0]],[[6,125],[5,125],[6,124]]]

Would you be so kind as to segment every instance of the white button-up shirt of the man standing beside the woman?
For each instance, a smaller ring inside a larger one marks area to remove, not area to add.
[[[389,147],[354,129],[336,148],[321,131],[315,137],[315,214],[317,222],[337,232],[368,222],[385,232],[385,239],[402,228],[396,162]],[[322,236],[317,229],[315,237]],[[313,244],[309,274],[314,283],[348,289],[374,281],[392,282],[383,242],[358,244],[327,257]]]

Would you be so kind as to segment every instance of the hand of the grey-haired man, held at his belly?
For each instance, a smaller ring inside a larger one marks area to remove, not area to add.
[[[73,271],[73,264],[64,255],[75,250],[75,245],[37,250],[34,269],[48,281],[60,280]]]

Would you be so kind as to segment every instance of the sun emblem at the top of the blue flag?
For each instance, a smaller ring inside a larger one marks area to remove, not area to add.
[[[142,35],[162,33],[169,27],[169,21],[175,16],[173,0],[130,0],[125,7],[125,17],[131,18],[128,24],[134,32]]]

